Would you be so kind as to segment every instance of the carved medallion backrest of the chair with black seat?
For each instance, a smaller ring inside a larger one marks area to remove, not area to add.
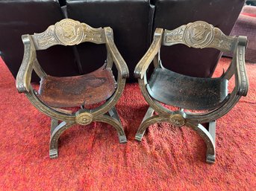
[[[184,44],[193,48],[216,48],[219,51],[233,51],[237,39],[226,36],[221,30],[207,22],[190,22],[175,30],[164,30],[163,45]]]

